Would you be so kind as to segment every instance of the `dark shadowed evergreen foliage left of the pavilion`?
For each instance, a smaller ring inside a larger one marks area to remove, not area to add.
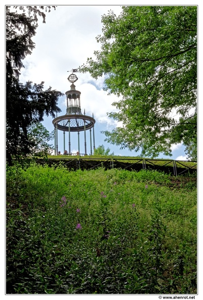
[[[20,69],[24,67],[22,60],[35,47],[32,37],[38,26],[37,17],[42,17],[45,23],[44,11],[50,9],[50,6],[6,7],[6,134],[10,163],[12,156],[32,152],[28,127],[43,121],[44,115],[55,117],[61,111],[57,106],[60,91],[51,87],[44,90],[44,82],[19,82]]]

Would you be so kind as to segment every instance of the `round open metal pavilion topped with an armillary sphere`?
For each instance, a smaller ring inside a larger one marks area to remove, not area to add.
[[[72,72],[77,72],[76,69],[73,69]],[[65,132],[68,132],[68,155],[71,154],[70,150],[70,132],[77,132],[78,138],[78,155],[87,155],[87,142],[86,142],[86,131],[90,130],[90,155],[92,152],[92,128],[93,128],[93,149],[95,149],[95,134],[94,134],[94,124],[95,119],[93,117],[84,115],[81,112],[80,108],[80,91],[75,89],[74,82],[77,81],[77,76],[75,74],[70,74],[68,77],[68,81],[72,84],[70,85],[70,90],[68,90],[66,94],[67,99],[67,108],[66,114],[64,116],[56,117],[52,123],[54,124],[54,136],[55,136],[55,155],[58,154],[58,130],[63,131],[63,143],[64,143],[64,152],[65,152]],[[80,153],[80,144],[79,144],[79,133],[80,131],[84,131],[85,137],[85,153]],[[94,150],[93,150],[94,151]]]

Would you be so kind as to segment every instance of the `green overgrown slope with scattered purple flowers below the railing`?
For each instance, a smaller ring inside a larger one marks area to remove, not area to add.
[[[184,178],[8,167],[7,293],[196,293],[196,177]]]

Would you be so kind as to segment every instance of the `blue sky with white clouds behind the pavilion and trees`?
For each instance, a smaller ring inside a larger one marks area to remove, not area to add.
[[[46,24],[39,19],[36,35],[33,37],[35,49],[32,54],[24,60],[25,68],[21,70],[20,81],[31,80],[33,83],[45,82],[45,88],[59,90],[65,93],[70,89],[70,82],[67,77],[72,69],[86,63],[88,57],[94,57],[93,52],[99,49],[96,37],[101,33],[101,16],[113,10],[116,14],[121,11],[119,5],[58,5],[56,10],[51,10],[46,14]],[[107,112],[115,111],[111,105],[118,98],[114,95],[107,95],[103,91],[103,80],[95,80],[90,74],[75,73],[78,80],[75,82],[76,89],[81,92],[80,105],[82,112],[86,110],[86,115],[92,116],[96,120],[95,124],[95,145],[103,144],[105,148],[110,148],[110,153],[122,156],[136,156],[135,152],[128,149],[120,149],[104,142],[105,135],[102,130],[112,130],[118,126],[117,122],[107,117]],[[62,110],[58,114],[64,115],[66,112],[66,96],[59,99],[58,106]],[[44,126],[52,131],[52,117],[45,117]],[[87,153],[90,153],[90,135],[87,135]],[[54,144],[54,141],[53,141]],[[58,132],[58,149],[63,152],[63,131]],[[68,134],[66,133],[66,149],[68,149]],[[71,133],[71,152],[76,152],[77,134]],[[184,146],[173,145],[172,159],[186,160]],[[84,136],[80,132],[80,152],[85,153]],[[160,154],[159,158],[167,158]],[[168,157],[169,158],[169,157]]]

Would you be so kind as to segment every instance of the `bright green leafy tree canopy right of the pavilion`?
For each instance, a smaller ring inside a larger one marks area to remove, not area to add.
[[[105,75],[104,89],[121,97],[108,115],[123,127],[105,140],[150,157],[196,148],[196,6],[126,6],[102,23],[101,49],[79,71]]]

